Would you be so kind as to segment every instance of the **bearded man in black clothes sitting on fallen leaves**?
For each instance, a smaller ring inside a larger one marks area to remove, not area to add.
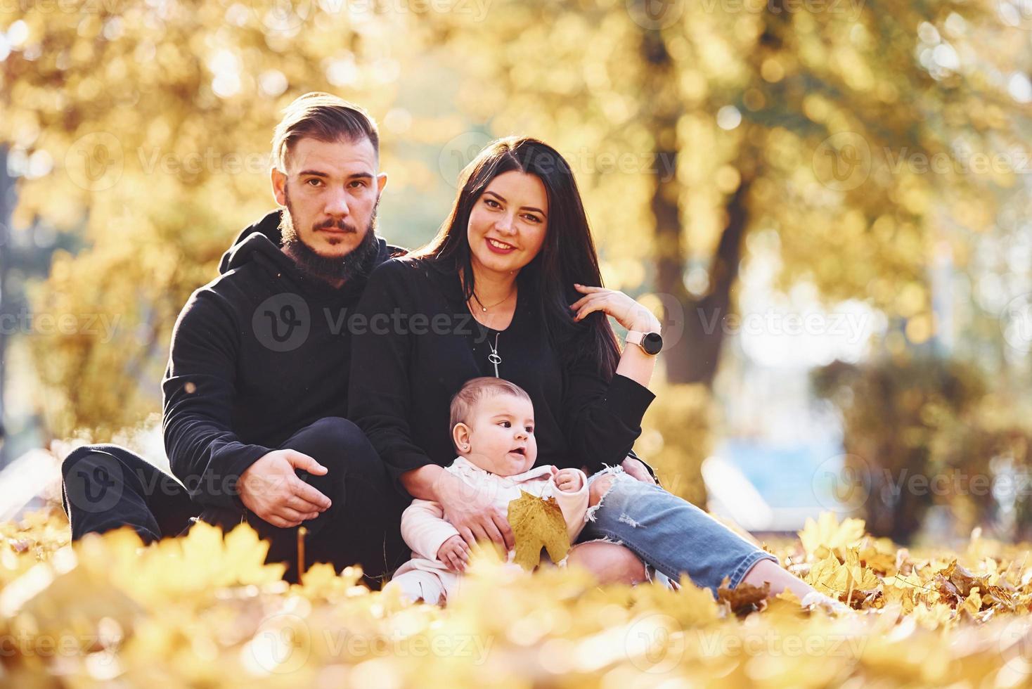
[[[240,233],[172,332],[162,426],[175,478],[125,448],[85,446],[62,464],[64,505],[73,539],[247,522],[289,581],[303,525],[308,562],[358,563],[376,586],[408,554],[407,500],[345,416],[348,317],[369,272],[401,253],[376,235],[379,133],[361,108],[305,94],[277,126],[272,160],[280,209]]]

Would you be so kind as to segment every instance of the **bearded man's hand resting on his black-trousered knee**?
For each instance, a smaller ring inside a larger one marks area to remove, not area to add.
[[[240,474],[240,501],[251,512],[282,529],[315,519],[329,505],[328,497],[297,478],[295,469],[323,475],[326,467],[293,450],[275,450]]]

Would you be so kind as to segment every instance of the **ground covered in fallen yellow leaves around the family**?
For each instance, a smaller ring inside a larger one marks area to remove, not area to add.
[[[841,617],[486,556],[447,610],[405,605],[327,566],[289,586],[246,526],[72,548],[38,513],[0,534],[0,686],[1032,685],[1026,547],[910,553],[832,515],[773,550],[857,610]]]

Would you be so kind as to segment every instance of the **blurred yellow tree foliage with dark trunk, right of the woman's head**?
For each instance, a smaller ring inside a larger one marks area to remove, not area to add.
[[[444,31],[477,76],[463,103],[574,153],[612,282],[663,295],[683,328],[672,383],[712,383],[746,240],[766,230],[782,285],[864,299],[928,341],[935,249],[963,262],[1020,174],[1017,155],[985,164],[1024,150],[996,76],[1024,32],[994,3],[531,2],[491,18]]]

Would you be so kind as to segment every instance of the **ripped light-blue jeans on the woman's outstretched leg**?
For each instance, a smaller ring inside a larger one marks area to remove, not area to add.
[[[612,475],[613,485],[602,502],[588,510],[578,543],[621,544],[663,575],[657,577],[663,583],[687,575],[714,596],[724,577],[734,588],[760,560],[777,562],[687,500],[638,481],[618,466],[590,475],[588,485],[604,475]]]

